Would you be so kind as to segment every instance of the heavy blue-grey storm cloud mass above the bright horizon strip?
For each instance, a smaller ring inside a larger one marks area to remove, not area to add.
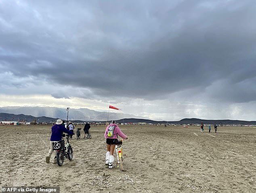
[[[239,0],[2,1],[0,70],[98,96],[153,100],[196,88],[214,89],[208,97],[218,100],[255,101],[255,7]]]

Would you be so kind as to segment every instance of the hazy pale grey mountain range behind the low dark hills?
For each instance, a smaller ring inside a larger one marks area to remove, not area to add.
[[[54,117],[66,120],[67,111],[66,109],[61,109],[57,107],[0,107],[0,113],[9,113],[14,115],[31,115],[33,117]],[[2,115],[4,116],[4,115]],[[112,113],[94,111],[86,108],[81,109],[69,109],[68,119],[69,120],[82,120],[82,121],[106,121],[109,120],[119,120],[124,118],[136,118],[136,119],[149,119],[147,117],[140,117],[124,113]],[[6,119],[2,117],[0,119]],[[21,118],[19,118],[21,119]],[[28,120],[28,119],[27,119]]]

